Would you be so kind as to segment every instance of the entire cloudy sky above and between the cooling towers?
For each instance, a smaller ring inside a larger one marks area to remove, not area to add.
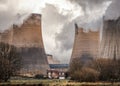
[[[0,31],[21,25],[31,13],[42,14],[42,34],[47,54],[69,63],[74,44],[74,24],[98,31],[102,19],[117,19],[120,0],[0,0]],[[18,14],[20,18],[18,19]]]

